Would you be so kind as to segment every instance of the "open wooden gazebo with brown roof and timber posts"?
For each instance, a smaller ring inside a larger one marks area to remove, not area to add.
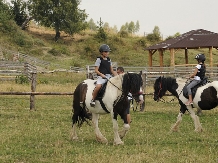
[[[213,67],[212,49],[218,49],[218,34],[204,29],[192,30],[176,38],[172,38],[158,44],[152,45],[145,50],[149,52],[149,66],[152,66],[152,55],[158,51],[160,67],[163,67],[163,52],[170,50],[170,66],[175,66],[175,51],[185,50],[185,63],[188,64],[188,49],[209,49],[209,64]]]

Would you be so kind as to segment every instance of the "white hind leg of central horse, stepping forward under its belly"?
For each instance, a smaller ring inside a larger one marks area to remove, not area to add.
[[[99,114],[92,113],[92,122],[94,126],[94,132],[96,136],[96,140],[101,143],[108,143],[107,139],[102,135],[100,129],[98,128],[98,118]]]

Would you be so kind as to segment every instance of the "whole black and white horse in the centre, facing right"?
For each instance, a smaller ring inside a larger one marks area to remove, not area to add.
[[[74,91],[73,99],[73,128],[71,139],[78,139],[76,125],[80,127],[83,122],[92,119],[94,132],[97,141],[107,143],[98,127],[99,114],[110,113],[113,122],[114,145],[123,144],[121,140],[129,130],[127,123],[127,96],[131,92],[136,101],[143,102],[141,95],[142,78],[141,74],[126,73],[110,78],[107,82],[104,94],[97,97],[95,107],[90,106],[92,92],[96,80],[87,79],[80,83]],[[101,90],[100,90],[101,91]],[[101,93],[100,93],[101,94]],[[117,116],[120,115],[124,121],[123,129],[118,132]]]

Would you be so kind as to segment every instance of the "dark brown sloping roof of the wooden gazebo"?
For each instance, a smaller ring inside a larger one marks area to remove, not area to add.
[[[192,30],[178,37],[152,45],[145,50],[218,48],[218,34],[204,29]]]

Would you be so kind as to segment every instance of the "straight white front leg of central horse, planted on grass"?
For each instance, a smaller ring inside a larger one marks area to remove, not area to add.
[[[114,145],[122,145],[123,142],[119,135],[119,127],[117,123],[117,114],[111,113],[112,116],[112,122],[113,122],[113,130],[114,130]]]

